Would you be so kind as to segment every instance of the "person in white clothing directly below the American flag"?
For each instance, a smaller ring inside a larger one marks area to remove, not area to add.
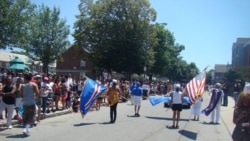
[[[198,121],[199,120],[199,115],[201,113],[201,105],[202,105],[203,98],[201,95],[199,95],[195,103],[191,105],[191,114],[194,115],[194,120]]]

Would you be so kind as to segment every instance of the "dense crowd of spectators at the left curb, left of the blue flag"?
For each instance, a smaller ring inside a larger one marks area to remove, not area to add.
[[[0,119],[6,118],[8,129],[12,128],[12,120],[20,120],[24,133],[29,135],[29,127],[39,124],[47,113],[71,108],[77,112],[74,99],[79,98],[85,79],[73,79],[71,74],[15,73],[2,68]]]

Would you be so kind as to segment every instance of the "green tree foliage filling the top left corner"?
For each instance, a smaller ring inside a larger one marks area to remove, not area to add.
[[[0,48],[24,48],[28,46],[30,14],[35,5],[29,0],[1,0]]]

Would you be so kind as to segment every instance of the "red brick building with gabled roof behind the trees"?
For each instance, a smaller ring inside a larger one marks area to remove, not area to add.
[[[62,54],[63,61],[57,62],[56,74],[67,75],[71,74],[76,79],[83,76],[95,79],[94,64],[87,59],[87,50],[84,50],[83,55],[78,54],[78,48],[76,45],[72,45]],[[85,58],[85,59],[84,59]]]

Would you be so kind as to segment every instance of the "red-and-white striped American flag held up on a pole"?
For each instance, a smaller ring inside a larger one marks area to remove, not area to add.
[[[207,67],[186,85],[186,90],[191,104],[195,103],[196,97],[201,95],[204,91],[206,82],[206,69]]]

